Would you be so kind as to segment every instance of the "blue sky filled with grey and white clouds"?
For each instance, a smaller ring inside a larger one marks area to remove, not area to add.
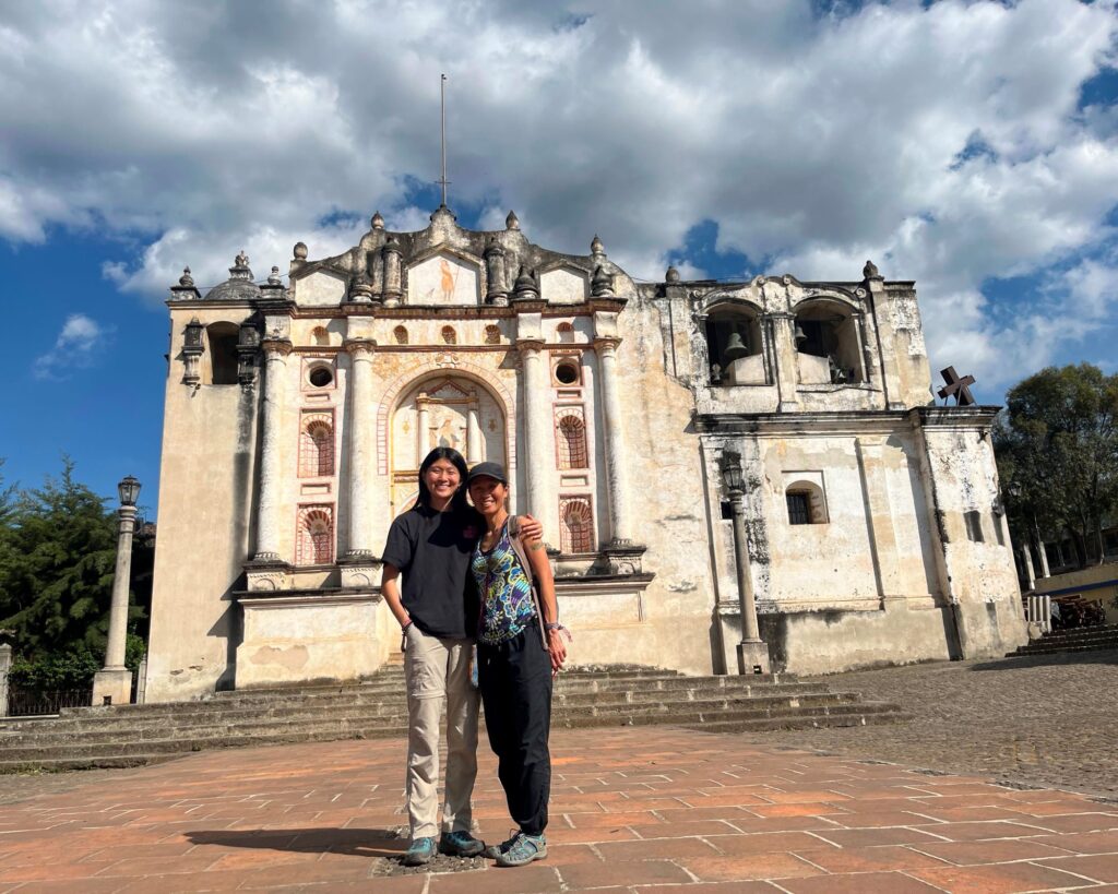
[[[449,205],[634,277],[915,279],[983,402],[1118,371],[1114,0],[0,0],[0,457],[154,516],[168,287]]]

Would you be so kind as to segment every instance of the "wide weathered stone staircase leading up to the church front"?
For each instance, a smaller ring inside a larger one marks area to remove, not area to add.
[[[222,692],[197,702],[0,720],[0,772],[132,767],[212,748],[402,736],[404,693],[402,667],[389,665],[363,683]],[[858,693],[832,692],[826,684],[641,668],[565,673],[552,711],[555,729],[672,724],[732,732],[904,719],[897,705],[864,702]]]

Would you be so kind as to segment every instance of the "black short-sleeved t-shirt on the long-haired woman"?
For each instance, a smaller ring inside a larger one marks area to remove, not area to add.
[[[476,635],[480,602],[470,558],[484,530],[484,520],[470,507],[436,512],[416,506],[392,522],[381,558],[404,576],[404,608],[425,634]]]

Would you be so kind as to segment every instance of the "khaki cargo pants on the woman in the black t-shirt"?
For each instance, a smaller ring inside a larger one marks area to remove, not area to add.
[[[470,685],[468,639],[428,636],[416,625],[404,637],[408,685],[407,800],[411,838],[438,830],[438,739],[446,703],[446,800],[443,831],[470,831],[477,776],[477,691]]]

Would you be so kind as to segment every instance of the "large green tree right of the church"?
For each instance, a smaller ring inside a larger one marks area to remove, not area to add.
[[[1067,531],[1081,564],[1101,562],[1118,515],[1118,375],[1090,363],[1030,375],[1006,397],[995,446],[1015,535]]]

